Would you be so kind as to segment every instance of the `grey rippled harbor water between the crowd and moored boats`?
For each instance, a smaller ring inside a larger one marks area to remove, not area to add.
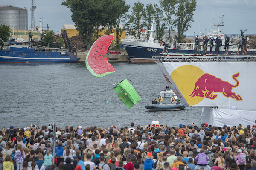
[[[0,65],[0,127],[55,124],[77,127],[201,124],[201,107],[149,111],[145,105],[168,85],[156,64],[111,63],[116,72],[94,77],[85,63]],[[112,89],[130,79],[141,101],[128,109]],[[163,98],[170,103],[170,98]]]

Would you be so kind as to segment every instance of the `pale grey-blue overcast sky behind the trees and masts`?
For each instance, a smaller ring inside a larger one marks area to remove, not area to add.
[[[126,0],[131,6],[137,0]],[[50,29],[61,31],[64,24],[74,24],[71,20],[71,12],[66,6],[61,5],[62,0],[35,0],[35,19],[39,25],[39,18],[43,18],[43,26],[48,24]],[[158,0],[140,0],[140,3],[158,3]],[[31,0],[1,0],[0,5],[12,4],[15,7],[28,9],[28,27],[31,26]],[[158,3],[159,4],[159,3]],[[245,34],[256,34],[256,0],[197,0],[194,12],[194,22],[185,34],[197,35],[202,29],[211,28],[212,9],[213,23],[220,23],[224,14],[224,28],[221,31],[227,34],[239,34],[240,29],[247,29]],[[214,28],[214,27],[213,27]]]

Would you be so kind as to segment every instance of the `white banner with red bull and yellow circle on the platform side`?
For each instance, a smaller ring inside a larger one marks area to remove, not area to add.
[[[256,62],[156,62],[181,103],[256,111]]]

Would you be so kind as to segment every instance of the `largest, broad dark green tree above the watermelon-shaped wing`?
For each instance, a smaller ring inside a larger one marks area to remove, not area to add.
[[[62,5],[72,12],[71,18],[76,24],[79,35],[84,38],[86,48],[93,42],[94,26],[115,25],[116,20],[125,11],[125,0],[65,0]]]

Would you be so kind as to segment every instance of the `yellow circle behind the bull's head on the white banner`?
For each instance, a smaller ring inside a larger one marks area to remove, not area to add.
[[[181,94],[184,96],[189,106],[198,104],[204,99],[204,97],[190,96],[194,91],[196,81],[202,75],[204,75],[203,70],[192,65],[180,66],[171,74],[173,81],[180,89]]]

